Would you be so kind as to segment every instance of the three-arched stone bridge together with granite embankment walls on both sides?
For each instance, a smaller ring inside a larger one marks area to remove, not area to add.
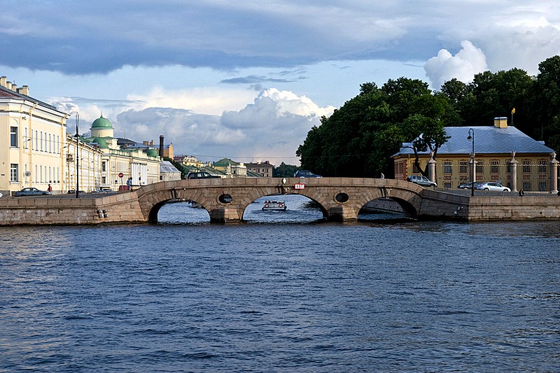
[[[554,220],[560,197],[517,193],[470,197],[387,178],[212,178],[165,181],[132,192],[102,197],[0,198],[0,225],[76,225],[156,222],[158,211],[175,200],[195,201],[213,223],[243,220],[246,207],[260,197],[298,194],[320,206],[327,220],[357,220],[374,199],[397,202],[405,216],[420,220]],[[83,196],[85,197],[85,195]]]

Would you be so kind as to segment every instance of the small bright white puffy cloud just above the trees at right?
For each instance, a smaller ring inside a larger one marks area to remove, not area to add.
[[[488,67],[484,52],[470,41],[461,41],[461,50],[456,55],[442,49],[424,65],[426,75],[435,89],[439,89],[445,81],[452,78],[470,83],[475,74],[486,69]]]

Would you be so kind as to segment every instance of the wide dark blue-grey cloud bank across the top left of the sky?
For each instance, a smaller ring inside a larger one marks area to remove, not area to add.
[[[3,1],[2,64],[64,73],[181,64],[233,69],[370,59],[398,45],[398,24],[351,2]],[[336,4],[336,5],[335,5]],[[345,10],[344,16],[335,13]],[[397,21],[394,21],[398,23]],[[421,49],[416,48],[416,51]],[[393,57],[405,51],[393,50]],[[424,52],[430,57],[430,51]]]

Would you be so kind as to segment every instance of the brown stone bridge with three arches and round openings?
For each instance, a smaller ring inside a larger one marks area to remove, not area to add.
[[[166,181],[139,188],[137,195],[144,220],[158,220],[160,208],[173,200],[199,203],[211,222],[243,220],[255,199],[268,195],[304,195],[316,202],[327,220],[357,220],[360,209],[373,199],[392,199],[405,216],[457,216],[468,198],[440,194],[419,185],[381,178],[209,178]]]

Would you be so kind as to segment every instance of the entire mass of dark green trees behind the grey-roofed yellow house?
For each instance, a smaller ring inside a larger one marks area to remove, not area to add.
[[[356,97],[311,128],[296,155],[302,168],[324,176],[391,176],[391,155],[403,143],[415,154],[437,156],[448,139],[443,127],[493,125],[496,117],[559,151],[560,56],[541,62],[539,71],[536,77],[521,69],[485,71],[468,84],[451,79],[438,92],[404,77],[382,87],[364,83]]]

